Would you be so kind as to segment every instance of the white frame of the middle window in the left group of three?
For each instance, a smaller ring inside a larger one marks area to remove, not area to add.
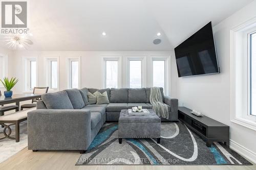
[[[59,56],[57,57],[45,57],[46,61],[46,85],[49,87],[48,91],[58,91],[59,90]],[[51,86],[51,62],[57,61],[57,88],[52,88]]]

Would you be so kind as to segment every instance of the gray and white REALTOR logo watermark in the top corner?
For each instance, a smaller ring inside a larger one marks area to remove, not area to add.
[[[28,32],[27,2],[1,2],[2,34],[26,34]],[[14,29],[16,28],[16,29]]]

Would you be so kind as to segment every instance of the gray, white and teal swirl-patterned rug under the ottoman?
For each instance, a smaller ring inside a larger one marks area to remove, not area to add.
[[[182,123],[162,123],[160,144],[154,138],[123,139],[119,144],[118,124],[104,124],[76,165],[105,164],[252,165],[223,143],[206,147],[206,143]]]

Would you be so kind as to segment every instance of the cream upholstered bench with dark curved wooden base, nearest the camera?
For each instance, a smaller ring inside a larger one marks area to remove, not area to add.
[[[0,125],[4,126],[4,135],[5,137],[0,138],[4,139],[4,138],[9,138],[9,139],[15,139],[16,142],[19,142],[19,123],[20,122],[24,122],[25,120],[27,120],[27,113],[29,111],[35,110],[36,108],[31,108],[31,109],[26,109],[23,111],[18,111],[15,113],[10,113],[10,114],[6,114],[4,116],[0,117]],[[7,125],[9,124],[9,125]],[[15,138],[11,137],[11,133],[12,130],[10,128],[10,126],[15,125]],[[8,129],[8,134],[6,133],[6,130]]]

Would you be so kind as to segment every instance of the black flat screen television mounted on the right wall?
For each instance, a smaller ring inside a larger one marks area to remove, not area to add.
[[[179,77],[220,73],[211,22],[174,48]]]

